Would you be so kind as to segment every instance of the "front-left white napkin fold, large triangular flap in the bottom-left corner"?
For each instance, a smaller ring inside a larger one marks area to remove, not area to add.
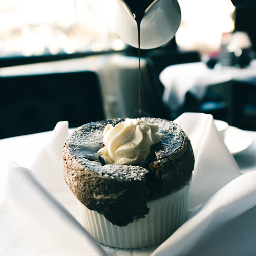
[[[6,194],[1,255],[106,255],[29,169],[10,164]]]

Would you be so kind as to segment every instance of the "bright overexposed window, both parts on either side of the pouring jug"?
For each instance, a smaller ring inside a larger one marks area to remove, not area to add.
[[[183,50],[219,49],[234,29],[231,0],[179,0]],[[116,0],[0,0],[0,57],[122,50]]]

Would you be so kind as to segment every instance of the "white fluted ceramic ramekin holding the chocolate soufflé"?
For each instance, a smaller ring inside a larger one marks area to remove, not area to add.
[[[117,248],[142,248],[165,241],[185,221],[189,185],[165,197],[149,200],[149,213],[127,226],[113,225],[102,214],[77,200],[81,224],[98,242]]]

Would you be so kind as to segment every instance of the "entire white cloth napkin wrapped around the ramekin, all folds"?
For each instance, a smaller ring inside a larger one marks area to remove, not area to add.
[[[195,153],[189,196],[192,209],[188,221],[153,255],[254,255],[256,173],[241,175],[211,115],[185,113],[176,123],[187,133]],[[1,255],[133,253],[102,250],[76,220],[74,197],[61,177],[61,149],[67,131],[66,122],[56,125],[32,166],[34,173],[10,166],[7,197],[0,206]],[[135,253],[146,255],[147,250]]]

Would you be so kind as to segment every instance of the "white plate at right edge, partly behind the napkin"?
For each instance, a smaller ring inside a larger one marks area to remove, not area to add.
[[[233,155],[236,155],[248,149],[251,146],[253,140],[246,133],[246,131],[233,126],[229,126],[225,131],[224,142],[229,151]]]

